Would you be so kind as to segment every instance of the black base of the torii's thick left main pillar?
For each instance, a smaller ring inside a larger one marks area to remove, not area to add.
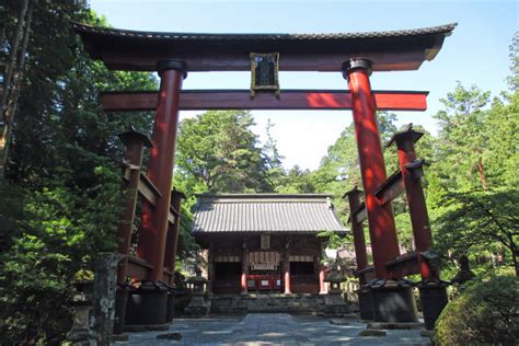
[[[162,281],[141,281],[130,291],[125,325],[160,325],[168,312],[168,286]]]

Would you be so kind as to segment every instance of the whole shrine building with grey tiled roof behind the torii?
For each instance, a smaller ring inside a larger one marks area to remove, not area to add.
[[[346,232],[331,195],[204,194],[193,234],[216,295],[325,292],[322,231]]]

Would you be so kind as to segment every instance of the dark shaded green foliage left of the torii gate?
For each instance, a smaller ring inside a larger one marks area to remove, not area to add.
[[[102,20],[82,1],[33,2],[8,181],[0,185],[2,345],[65,337],[74,274],[117,245],[123,148],[116,134],[130,124],[148,131],[151,123],[151,114],[105,114],[99,93],[157,89],[150,73],[112,72],[86,56],[69,21]],[[10,1],[8,15],[16,8]],[[11,34],[9,26],[8,39]]]

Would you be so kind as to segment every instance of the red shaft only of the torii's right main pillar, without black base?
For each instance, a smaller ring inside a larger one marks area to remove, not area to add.
[[[385,263],[400,255],[391,204],[382,206],[376,191],[385,182],[385,165],[380,135],[374,117],[376,104],[369,82],[369,71],[355,68],[347,71],[354,106],[355,134],[365,189],[368,226],[377,278],[400,278],[387,270]]]

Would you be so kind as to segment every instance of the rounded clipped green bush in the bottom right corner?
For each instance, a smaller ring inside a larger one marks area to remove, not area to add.
[[[436,322],[438,345],[518,345],[519,289],[514,276],[476,282],[449,302]]]

